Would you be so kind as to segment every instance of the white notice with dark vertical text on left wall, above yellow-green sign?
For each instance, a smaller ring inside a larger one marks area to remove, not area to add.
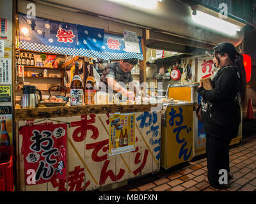
[[[0,58],[0,84],[11,84],[11,59]]]

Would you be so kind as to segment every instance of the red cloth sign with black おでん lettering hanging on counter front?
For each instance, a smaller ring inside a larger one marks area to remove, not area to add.
[[[27,185],[66,179],[67,124],[23,126],[20,135]]]

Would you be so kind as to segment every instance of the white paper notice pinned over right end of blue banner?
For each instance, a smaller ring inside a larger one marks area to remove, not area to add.
[[[125,52],[136,52],[140,53],[139,39],[135,32],[123,31]]]

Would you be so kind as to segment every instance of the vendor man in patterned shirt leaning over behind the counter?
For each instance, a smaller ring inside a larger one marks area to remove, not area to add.
[[[121,59],[119,62],[107,64],[100,78],[100,91],[119,92],[129,99],[134,99],[134,93],[138,93],[139,88],[133,82],[131,70],[136,64],[138,64],[138,59],[135,58]],[[130,90],[134,90],[134,92],[127,91],[127,83]]]

